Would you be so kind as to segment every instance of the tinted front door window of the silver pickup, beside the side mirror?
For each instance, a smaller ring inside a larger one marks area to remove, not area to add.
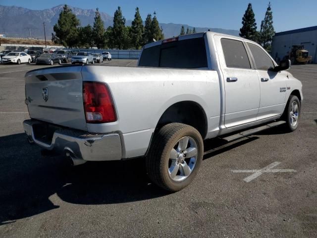
[[[268,57],[264,50],[251,43],[248,43],[248,46],[253,55],[257,69],[268,70],[269,68],[274,68],[273,61],[271,60],[271,58]]]

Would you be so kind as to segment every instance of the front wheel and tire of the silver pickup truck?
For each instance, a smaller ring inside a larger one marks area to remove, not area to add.
[[[288,99],[283,119],[286,121],[285,130],[292,132],[297,129],[301,116],[301,102],[298,97],[291,95]]]

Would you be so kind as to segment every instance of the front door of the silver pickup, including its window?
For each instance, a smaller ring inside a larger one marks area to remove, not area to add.
[[[275,64],[262,48],[253,43],[247,43],[252,54],[255,68],[259,74],[261,88],[258,120],[274,117],[283,113],[286,97],[286,74],[274,72]]]

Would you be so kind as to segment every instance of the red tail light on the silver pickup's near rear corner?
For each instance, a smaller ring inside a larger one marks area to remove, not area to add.
[[[106,84],[84,82],[83,100],[87,123],[106,123],[117,120],[113,100]]]

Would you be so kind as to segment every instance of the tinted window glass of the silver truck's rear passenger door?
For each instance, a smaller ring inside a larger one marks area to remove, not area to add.
[[[242,41],[222,38],[221,46],[227,67],[251,68],[250,60]]]

